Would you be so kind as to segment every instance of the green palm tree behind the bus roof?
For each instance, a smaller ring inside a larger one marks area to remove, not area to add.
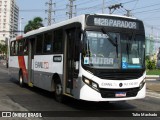
[[[35,17],[33,20],[28,21],[28,24],[24,28],[24,33],[43,27],[44,25],[42,22],[43,20],[41,17]]]

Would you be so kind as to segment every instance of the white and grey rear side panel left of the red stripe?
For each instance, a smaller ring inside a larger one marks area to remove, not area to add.
[[[19,79],[19,63],[18,63],[18,56],[10,56],[9,58],[9,72],[11,78]]]

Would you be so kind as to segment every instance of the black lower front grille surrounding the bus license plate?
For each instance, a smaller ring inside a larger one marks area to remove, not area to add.
[[[102,98],[117,98],[117,92],[124,92],[126,96],[122,97],[135,97],[139,91],[139,87],[137,88],[130,88],[130,89],[104,89],[100,88],[100,93]],[[118,97],[119,98],[119,97]]]

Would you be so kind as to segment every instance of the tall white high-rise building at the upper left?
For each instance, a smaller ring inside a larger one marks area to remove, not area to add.
[[[6,41],[17,35],[19,8],[16,0],[0,0],[0,40]]]

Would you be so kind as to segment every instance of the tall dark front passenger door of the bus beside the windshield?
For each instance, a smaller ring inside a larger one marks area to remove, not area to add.
[[[79,62],[79,48],[77,47],[77,28],[66,30],[66,65],[64,74],[66,74],[66,93],[72,94],[74,80],[78,78],[79,70],[75,63]],[[78,54],[78,55],[77,55]]]

